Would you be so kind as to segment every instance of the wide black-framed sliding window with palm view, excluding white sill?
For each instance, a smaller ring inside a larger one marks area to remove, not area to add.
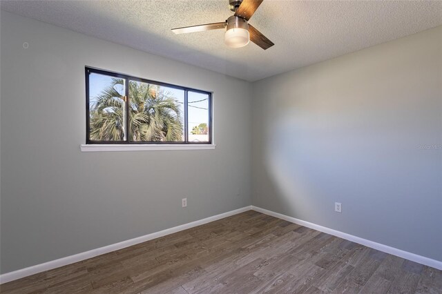
[[[86,144],[211,144],[211,92],[86,67]]]

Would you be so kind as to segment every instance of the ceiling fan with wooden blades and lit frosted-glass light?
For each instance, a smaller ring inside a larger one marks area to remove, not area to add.
[[[226,28],[224,41],[229,47],[239,48],[246,46],[249,41],[256,43],[262,49],[266,50],[275,45],[272,41],[262,35],[256,28],[253,28],[247,21],[258,6],[264,0],[229,0],[229,8],[235,14],[226,21],[220,23],[206,23],[198,26],[186,26],[183,28],[173,28],[175,34],[184,34],[186,32],[204,32],[206,30],[218,30]]]

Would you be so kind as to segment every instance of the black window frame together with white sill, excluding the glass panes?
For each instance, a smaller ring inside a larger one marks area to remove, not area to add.
[[[90,140],[90,113],[89,113],[89,75],[90,73],[96,73],[98,75],[107,75],[111,77],[119,77],[126,80],[126,89],[125,89],[125,95],[127,97],[126,101],[126,141],[93,141]],[[189,88],[184,86],[177,86],[173,84],[167,84],[162,81],[153,81],[151,79],[143,79],[141,77],[133,77],[131,75],[125,75],[119,72],[113,72],[109,70],[102,70],[99,68],[93,68],[90,66],[84,67],[84,75],[86,80],[86,144],[81,144],[81,151],[122,151],[122,150],[184,150],[184,149],[214,149],[215,145],[213,144],[213,92],[204,91],[204,90],[198,90],[195,88]],[[155,84],[158,86],[164,86],[167,88],[175,88],[178,90],[184,90],[184,141],[129,141],[128,139],[128,126],[129,126],[129,119],[130,115],[128,112],[129,104],[128,101],[130,99],[128,92],[129,92],[129,86],[128,81],[140,81],[147,84]],[[187,97],[188,92],[197,92],[201,94],[206,94],[209,97],[208,101],[208,108],[209,108],[209,141],[204,142],[194,142],[189,141],[189,134],[188,134],[188,108],[189,105],[187,104]],[[117,146],[119,145],[119,146]],[[86,147],[92,147],[92,148],[86,148]],[[98,146],[102,146],[102,148],[97,148]],[[115,146],[116,148],[112,148]],[[126,146],[126,148],[123,148]],[[139,146],[139,148],[127,148],[129,146]],[[149,147],[151,146],[151,147]],[[163,146],[164,148],[157,148],[157,146]],[[175,148],[172,148],[175,146]],[[188,146],[201,146],[206,148],[189,148]]]

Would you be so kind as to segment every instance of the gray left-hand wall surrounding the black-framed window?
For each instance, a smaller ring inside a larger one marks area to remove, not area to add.
[[[215,150],[81,153],[86,65],[213,91]],[[250,205],[250,92],[2,11],[1,273]]]

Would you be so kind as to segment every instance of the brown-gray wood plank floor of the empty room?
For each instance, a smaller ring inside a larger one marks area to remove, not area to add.
[[[442,293],[442,271],[249,210],[0,292]]]

